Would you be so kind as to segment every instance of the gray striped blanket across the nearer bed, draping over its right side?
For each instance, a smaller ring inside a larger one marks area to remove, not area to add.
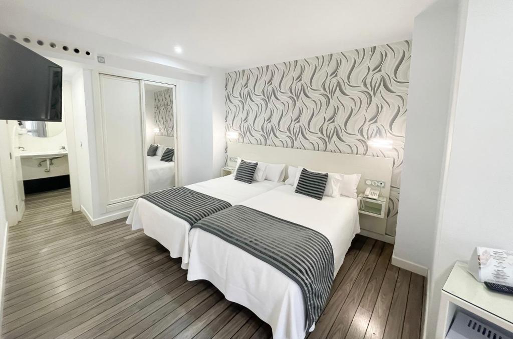
[[[333,284],[333,249],[320,232],[242,205],[195,223],[277,268],[299,285],[307,328],[317,321]]]

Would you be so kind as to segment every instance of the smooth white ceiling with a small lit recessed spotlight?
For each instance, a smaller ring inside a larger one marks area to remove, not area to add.
[[[234,70],[409,39],[413,18],[434,0],[0,2],[146,50]]]

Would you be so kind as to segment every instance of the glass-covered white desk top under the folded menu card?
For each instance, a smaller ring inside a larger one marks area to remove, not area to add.
[[[513,295],[490,291],[462,261],[456,262],[442,290],[513,324]]]

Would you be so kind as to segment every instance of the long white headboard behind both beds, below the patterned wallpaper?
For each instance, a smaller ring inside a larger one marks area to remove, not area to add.
[[[314,171],[345,174],[361,173],[362,179],[358,185],[358,193],[363,192],[368,187],[365,184],[365,179],[372,179],[384,181],[385,187],[381,188],[381,195],[387,198],[390,196],[393,164],[391,158],[297,150],[238,142],[228,142],[228,157],[241,157],[269,163],[285,163],[289,166],[307,167]],[[228,165],[235,166],[235,163],[228,161]],[[285,177],[287,176],[285,175]]]

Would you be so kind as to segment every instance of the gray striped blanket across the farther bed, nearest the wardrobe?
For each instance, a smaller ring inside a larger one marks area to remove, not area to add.
[[[173,187],[142,195],[154,205],[187,221],[191,226],[201,219],[231,206],[229,202],[196,192],[187,187]]]

